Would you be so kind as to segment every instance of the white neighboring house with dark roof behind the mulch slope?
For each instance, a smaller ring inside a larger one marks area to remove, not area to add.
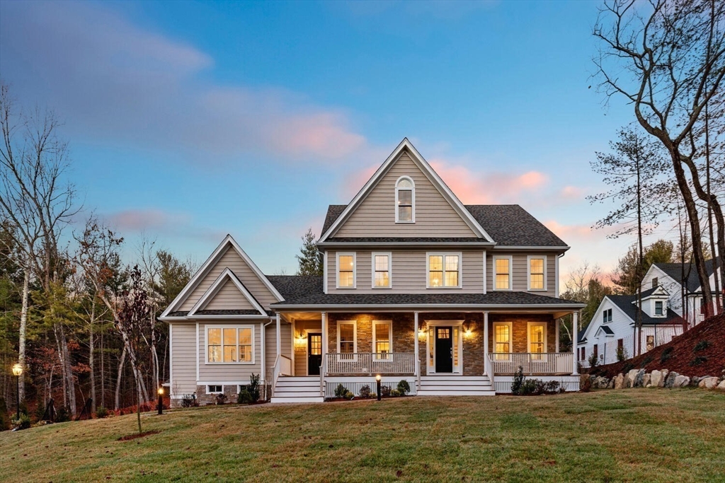
[[[711,286],[713,266],[713,260],[706,262]],[[642,279],[642,290],[642,353],[668,343],[704,319],[702,287],[694,266],[653,264]],[[714,301],[711,303],[714,308]],[[577,359],[581,366],[589,366],[592,354],[600,364],[616,362],[620,348],[625,358],[634,357],[636,319],[637,295],[606,296],[589,325],[579,332]]]

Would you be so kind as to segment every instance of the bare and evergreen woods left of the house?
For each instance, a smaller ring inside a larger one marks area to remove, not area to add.
[[[150,240],[123,264],[123,237],[80,206],[57,117],[0,89],[0,397],[15,406],[20,361],[31,411],[154,400],[169,366],[157,316],[195,267]]]

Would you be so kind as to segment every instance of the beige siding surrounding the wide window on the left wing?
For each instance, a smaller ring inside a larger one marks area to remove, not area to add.
[[[254,326],[254,364],[207,364],[207,327]],[[249,376],[260,374],[262,361],[262,324],[260,321],[224,321],[199,322],[199,381],[201,382],[239,382],[248,384]]]

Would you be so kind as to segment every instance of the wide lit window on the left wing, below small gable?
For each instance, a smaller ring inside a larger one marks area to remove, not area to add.
[[[208,327],[207,363],[252,364],[254,327]]]

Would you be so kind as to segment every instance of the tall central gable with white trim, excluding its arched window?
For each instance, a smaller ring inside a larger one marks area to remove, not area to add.
[[[413,180],[414,222],[396,220],[396,185]],[[407,138],[402,140],[320,237],[330,238],[481,238],[493,243],[481,224],[465,209]]]

